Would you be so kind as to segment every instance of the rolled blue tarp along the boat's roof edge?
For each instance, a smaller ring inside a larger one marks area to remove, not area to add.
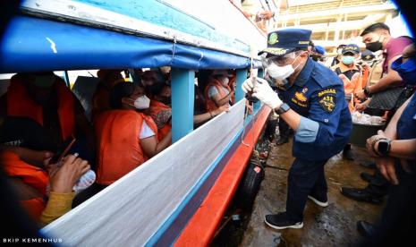
[[[102,68],[184,69],[250,67],[240,55],[138,37],[67,22],[16,16],[0,43],[0,72]],[[255,66],[259,66],[256,61]]]

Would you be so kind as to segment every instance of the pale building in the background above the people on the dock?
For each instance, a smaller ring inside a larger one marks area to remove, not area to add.
[[[339,44],[356,43],[363,47],[360,33],[372,23],[406,26],[395,4],[386,0],[289,0],[288,4],[277,15],[274,28],[312,30],[312,40],[329,52],[334,52]],[[391,29],[393,36],[409,35]]]

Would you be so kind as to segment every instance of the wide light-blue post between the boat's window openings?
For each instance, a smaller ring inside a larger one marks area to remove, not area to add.
[[[195,72],[172,68],[172,142],[193,131]]]

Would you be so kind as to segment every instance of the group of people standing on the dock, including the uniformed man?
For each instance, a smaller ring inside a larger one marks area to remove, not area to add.
[[[278,40],[277,40],[278,37]],[[280,138],[288,142],[293,130],[293,157],[289,171],[286,210],[267,215],[265,222],[276,229],[301,228],[307,199],[327,207],[327,183],[323,167],[327,159],[342,150],[354,159],[349,136],[351,115],[378,115],[386,122],[367,140],[375,169],[362,173],[366,188],[342,187],[352,200],[381,204],[388,195],[380,222],[358,221],[357,229],[374,246],[395,243],[398,236],[412,241],[415,229],[415,104],[416,54],[410,37],[394,38],[384,23],[374,23],[361,32],[365,50],[357,44],[341,44],[328,61],[324,47],[310,40],[310,30],[286,29],[268,34],[263,63],[267,81],[243,83],[280,115]],[[309,58],[308,58],[309,56]],[[313,63],[311,61],[315,61]],[[381,76],[373,76],[378,64]],[[270,87],[271,86],[271,87]],[[345,112],[347,109],[347,112]],[[383,130],[381,130],[383,129]],[[404,241],[404,240],[403,240]],[[402,240],[400,240],[402,242]]]

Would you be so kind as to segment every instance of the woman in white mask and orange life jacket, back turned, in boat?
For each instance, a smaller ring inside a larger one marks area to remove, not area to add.
[[[157,142],[157,126],[142,112],[150,99],[144,89],[132,83],[119,83],[110,93],[113,110],[98,115],[97,183],[108,185],[128,174],[149,158],[166,149],[172,132]]]

